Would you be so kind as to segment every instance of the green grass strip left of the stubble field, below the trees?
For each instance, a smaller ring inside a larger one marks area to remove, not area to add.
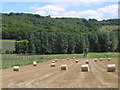
[[[53,59],[67,59],[67,58],[82,58],[82,54],[55,54],[55,55],[17,55],[17,54],[3,54],[2,55],[2,68],[12,67],[14,65],[29,65],[33,61],[44,62]]]

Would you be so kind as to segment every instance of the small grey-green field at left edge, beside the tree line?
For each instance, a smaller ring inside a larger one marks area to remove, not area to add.
[[[2,49],[3,51],[5,50],[10,50],[13,51],[15,50],[15,40],[0,40],[0,42],[2,43]]]

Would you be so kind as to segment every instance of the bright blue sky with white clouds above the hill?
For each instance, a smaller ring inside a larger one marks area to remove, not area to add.
[[[17,1],[17,2],[16,2]],[[118,18],[118,0],[3,0],[2,13],[32,13],[51,17]]]

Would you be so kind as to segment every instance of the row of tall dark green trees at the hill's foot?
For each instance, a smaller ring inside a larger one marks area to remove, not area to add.
[[[112,33],[68,33],[41,31],[16,42],[16,53],[72,54],[117,51],[118,41]]]

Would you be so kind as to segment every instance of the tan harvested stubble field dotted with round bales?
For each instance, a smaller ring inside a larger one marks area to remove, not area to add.
[[[81,72],[80,67],[85,64],[85,58],[58,59],[56,66],[51,67],[51,60],[33,65],[21,66],[19,72],[13,68],[2,69],[3,88],[118,88],[118,58],[107,61],[94,62],[89,60],[90,71]],[[60,70],[66,64],[68,70]],[[107,72],[107,64],[115,64],[115,72]]]

